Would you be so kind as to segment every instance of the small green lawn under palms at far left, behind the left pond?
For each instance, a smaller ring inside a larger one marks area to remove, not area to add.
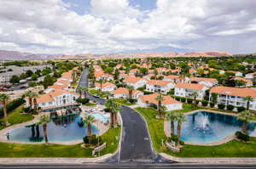
[[[23,112],[23,106],[24,105],[20,105],[15,110],[12,110],[12,112],[9,113],[7,118],[10,125],[19,124],[26,121],[32,121],[34,119],[33,115],[21,114]],[[0,127],[0,129],[3,128],[4,127]]]

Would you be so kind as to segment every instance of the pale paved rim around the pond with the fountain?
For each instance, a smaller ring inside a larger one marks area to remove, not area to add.
[[[200,111],[210,111],[212,113],[218,113],[218,114],[224,114],[224,115],[237,115],[235,113],[226,113],[226,112],[221,112],[221,111],[216,111],[216,110],[194,110],[194,111],[189,111],[187,113],[184,113],[184,115],[191,115]],[[256,121],[251,121],[251,122],[256,122]],[[168,121],[164,122],[164,132],[166,134],[167,137],[170,137],[171,132],[168,130]],[[232,139],[235,139],[236,136],[234,134],[231,134],[225,138],[219,139],[216,142],[212,142],[212,143],[189,143],[189,142],[184,142],[185,144],[190,144],[190,145],[206,145],[206,146],[212,146],[212,145],[219,145],[219,144],[224,144],[227,143],[229,141],[231,141]]]

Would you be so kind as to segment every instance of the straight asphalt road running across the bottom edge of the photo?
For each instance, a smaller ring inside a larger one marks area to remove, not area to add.
[[[111,164],[111,163],[98,163],[98,164],[81,164],[81,165],[73,165],[73,164],[36,164],[36,165],[23,165],[23,164],[16,164],[16,165],[0,165],[0,169],[82,169],[82,168],[90,168],[90,169],[104,169],[104,168],[154,168],[154,169],[180,169],[180,168],[187,168],[187,169],[194,169],[194,168],[230,168],[230,169],[243,169],[243,168],[256,168],[253,164],[183,164],[183,163],[174,163],[174,164],[143,164],[143,163],[118,163],[118,164]]]

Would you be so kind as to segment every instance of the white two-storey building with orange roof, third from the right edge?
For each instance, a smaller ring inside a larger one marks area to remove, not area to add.
[[[148,92],[168,93],[174,86],[173,82],[168,81],[148,80],[146,82],[146,90]]]

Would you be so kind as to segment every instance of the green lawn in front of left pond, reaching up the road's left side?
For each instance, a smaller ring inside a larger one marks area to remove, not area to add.
[[[113,153],[119,144],[120,127],[109,129],[102,135],[102,142],[107,143],[107,148],[101,155]],[[91,157],[91,149],[82,149],[81,144],[8,144],[0,143],[0,157]]]

